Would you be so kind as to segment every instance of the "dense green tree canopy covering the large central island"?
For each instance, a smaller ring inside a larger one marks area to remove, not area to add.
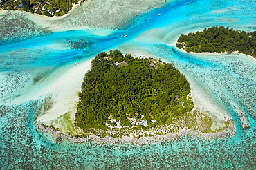
[[[147,128],[168,124],[172,117],[194,108],[187,100],[189,93],[185,76],[172,64],[122,55],[118,50],[103,52],[93,59],[84,77],[75,125],[106,129],[104,123],[111,124],[109,115],[122,126],[132,126],[129,118],[142,119],[141,115]]]

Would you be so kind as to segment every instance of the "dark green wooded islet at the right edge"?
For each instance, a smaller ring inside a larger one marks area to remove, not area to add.
[[[181,34],[176,46],[183,48],[188,53],[190,51],[197,53],[232,53],[239,51],[239,53],[256,57],[255,37],[256,31],[248,33],[228,27],[214,26],[212,28],[205,28],[203,32],[198,31],[188,35]]]

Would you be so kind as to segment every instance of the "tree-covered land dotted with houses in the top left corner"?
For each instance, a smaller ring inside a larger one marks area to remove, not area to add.
[[[22,4],[22,5],[21,5]],[[46,16],[61,16],[71,10],[77,0],[0,0],[0,10],[25,10]]]

